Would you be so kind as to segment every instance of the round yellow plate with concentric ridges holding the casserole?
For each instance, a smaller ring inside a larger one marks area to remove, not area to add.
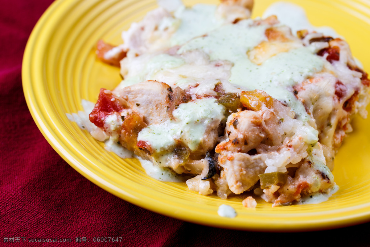
[[[316,26],[331,26],[346,37],[353,54],[370,71],[370,3],[365,0],[290,0],[307,11]],[[198,1],[186,1],[192,5]],[[205,0],[205,3],[217,3]],[[260,16],[273,0],[256,0]],[[210,226],[261,231],[320,230],[370,219],[370,119],[354,119],[354,132],[336,157],[340,190],[314,205],[243,208],[238,197],[222,200],[189,191],[184,183],[163,183],[147,176],[137,160],[122,160],[69,121],[65,113],[82,110],[81,100],[96,101],[100,87],[120,82],[118,69],[95,58],[97,40],[121,43],[130,23],[157,7],[154,0],[57,0],[44,13],[27,43],[23,89],[37,126],[53,148],[93,183],[140,207]],[[221,204],[235,218],[218,216]]]

